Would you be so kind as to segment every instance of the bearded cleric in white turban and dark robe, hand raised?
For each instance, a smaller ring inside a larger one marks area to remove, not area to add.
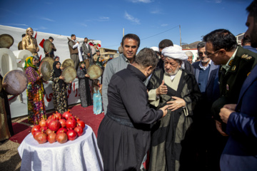
[[[153,125],[150,170],[190,170],[193,150],[194,105],[201,97],[196,78],[181,66],[188,56],[180,46],[163,48],[163,69],[153,72],[148,83],[148,103],[154,108],[169,105],[168,113]],[[188,138],[189,137],[189,138]],[[184,151],[186,153],[181,153]],[[192,152],[192,153],[191,153]],[[160,160],[161,159],[161,160]],[[166,162],[168,161],[168,162]],[[181,166],[183,163],[183,167]]]

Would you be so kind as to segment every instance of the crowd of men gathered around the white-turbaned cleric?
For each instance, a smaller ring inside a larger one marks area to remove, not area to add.
[[[151,132],[149,170],[256,170],[257,1],[246,10],[248,31],[243,47],[230,31],[211,31],[198,43],[200,61],[192,65],[193,55],[183,54],[171,40],[161,41],[157,50],[153,48],[156,56],[161,56],[158,63],[151,63],[152,53],[145,48],[136,56],[138,36],[124,36],[123,53],[107,63],[103,77],[106,115],[98,143],[105,170],[143,170],[146,149],[138,143],[144,144],[146,139],[138,140],[140,133],[135,130]],[[142,103],[141,91],[145,90],[141,86],[131,92],[133,86],[127,81],[133,74],[141,78],[133,85],[141,82],[147,86],[147,104]],[[128,141],[122,143],[126,136]]]

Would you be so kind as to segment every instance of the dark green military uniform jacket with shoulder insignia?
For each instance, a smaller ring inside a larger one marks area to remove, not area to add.
[[[238,102],[238,96],[243,86],[243,81],[256,65],[257,53],[248,51],[247,49],[238,46],[233,60],[228,64],[230,68],[226,71],[220,67],[218,72],[218,81],[220,88],[220,98],[216,100],[212,105],[212,113],[216,120],[220,120],[219,112],[223,105],[236,104]]]

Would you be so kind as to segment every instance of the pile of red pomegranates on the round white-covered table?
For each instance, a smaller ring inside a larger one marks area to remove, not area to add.
[[[70,111],[53,113],[47,120],[42,119],[39,125],[31,129],[34,139],[43,144],[45,142],[64,143],[67,140],[75,140],[84,133],[85,123],[74,117]]]

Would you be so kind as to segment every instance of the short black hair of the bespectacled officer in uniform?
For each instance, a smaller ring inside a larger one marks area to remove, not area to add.
[[[236,37],[226,29],[217,29],[211,31],[203,37],[203,41],[213,44],[213,51],[224,48],[226,51],[232,51],[237,46]]]

